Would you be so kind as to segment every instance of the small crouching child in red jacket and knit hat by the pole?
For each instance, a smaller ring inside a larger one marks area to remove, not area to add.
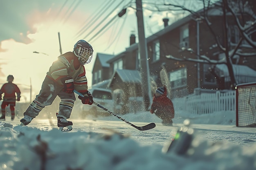
[[[157,110],[155,112],[155,110]],[[174,108],[173,102],[167,97],[166,86],[158,87],[155,90],[153,97],[153,103],[150,108],[150,113],[155,113],[160,119],[162,119],[162,124],[166,126],[173,125],[174,118]]]

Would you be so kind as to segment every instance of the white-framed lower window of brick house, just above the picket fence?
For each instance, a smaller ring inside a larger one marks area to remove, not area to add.
[[[170,82],[172,88],[184,87],[187,85],[186,67],[170,73]]]

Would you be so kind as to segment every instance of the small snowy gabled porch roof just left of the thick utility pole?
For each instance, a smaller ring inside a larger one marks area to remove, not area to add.
[[[141,75],[140,75],[139,71],[137,71],[137,70],[126,70],[126,69],[119,70],[119,69],[117,69],[115,71],[115,73],[113,74],[112,78],[110,79],[108,87],[110,87],[110,84],[112,84],[112,81],[113,81],[114,77],[117,77],[117,76],[120,77],[122,82],[141,84]]]

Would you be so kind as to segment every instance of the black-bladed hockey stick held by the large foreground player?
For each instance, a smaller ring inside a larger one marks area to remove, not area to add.
[[[83,94],[79,93],[78,91],[74,90],[74,93],[78,94],[79,96],[82,96],[84,97]],[[110,113],[111,115],[117,117],[118,119],[121,119],[122,121],[126,122],[127,124],[129,124],[130,126],[138,129],[138,130],[149,130],[149,129],[153,129],[155,128],[155,123],[150,123],[150,124],[147,124],[145,126],[135,126],[134,124],[130,123],[129,121],[127,121],[126,119],[122,118],[121,116],[111,112],[110,110],[108,110],[107,108],[101,106],[100,104],[98,104],[97,102],[93,102],[93,104],[95,104],[96,106],[98,106],[99,108],[102,108],[103,110],[107,111],[108,113]]]

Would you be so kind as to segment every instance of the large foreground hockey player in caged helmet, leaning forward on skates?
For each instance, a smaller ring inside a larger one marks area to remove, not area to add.
[[[59,112],[56,113],[60,130],[72,130],[70,118],[74,102],[76,100],[74,90],[82,93],[79,96],[83,104],[92,104],[93,97],[87,90],[87,78],[85,76],[84,64],[92,60],[92,46],[85,40],[79,40],[74,45],[73,52],[69,51],[58,57],[46,74],[42,88],[34,101],[20,119],[21,125],[27,125],[35,118],[45,106],[51,105],[56,96],[61,98]],[[63,129],[66,127],[65,129]]]

